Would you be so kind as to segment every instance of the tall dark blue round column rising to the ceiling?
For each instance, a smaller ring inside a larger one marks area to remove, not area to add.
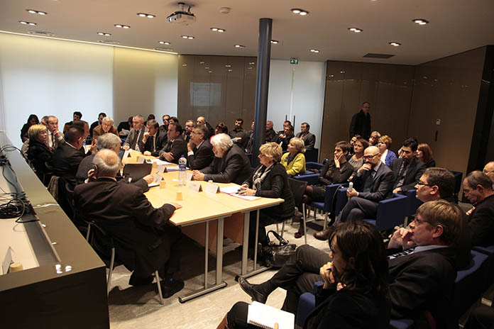
[[[259,147],[265,142],[266,118],[268,113],[269,66],[271,57],[271,30],[273,20],[260,18],[258,43],[258,72],[256,82],[256,108],[254,112],[254,144],[251,166],[259,165]]]

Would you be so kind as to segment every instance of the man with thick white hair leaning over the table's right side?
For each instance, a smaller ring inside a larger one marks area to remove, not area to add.
[[[194,180],[242,184],[251,176],[251,162],[246,152],[224,133],[211,138],[214,160],[201,171],[194,170]]]

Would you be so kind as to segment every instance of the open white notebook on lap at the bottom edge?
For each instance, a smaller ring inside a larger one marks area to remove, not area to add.
[[[265,329],[274,329],[278,323],[279,329],[293,329],[295,314],[254,301],[248,306],[247,323]]]

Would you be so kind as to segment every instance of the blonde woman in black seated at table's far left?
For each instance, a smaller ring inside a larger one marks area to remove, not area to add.
[[[47,163],[50,163],[53,150],[46,145],[48,131],[43,125],[33,125],[29,127],[28,138],[28,160],[35,169],[36,175],[45,186],[48,186],[52,176],[52,171]]]

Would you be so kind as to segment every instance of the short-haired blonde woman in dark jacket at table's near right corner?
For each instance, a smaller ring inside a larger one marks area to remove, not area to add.
[[[259,242],[267,245],[265,226],[292,218],[295,212],[295,201],[293,201],[292,190],[288,184],[287,172],[280,165],[281,146],[273,142],[265,143],[259,147],[258,157],[260,165],[251,177],[243,182],[238,194],[285,200],[278,206],[264,208],[259,213]],[[254,242],[256,236],[256,211],[251,211],[250,224],[249,243]]]

